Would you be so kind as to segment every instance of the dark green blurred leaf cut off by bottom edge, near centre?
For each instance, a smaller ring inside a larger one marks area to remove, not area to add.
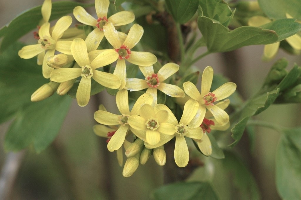
[[[151,193],[153,200],[218,200],[216,192],[209,183],[178,182],[161,186]]]

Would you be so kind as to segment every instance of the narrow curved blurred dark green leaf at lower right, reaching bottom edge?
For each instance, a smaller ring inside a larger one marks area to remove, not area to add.
[[[225,151],[223,165],[234,179],[235,197],[240,200],[259,200],[260,193],[256,181],[244,163],[230,151]]]

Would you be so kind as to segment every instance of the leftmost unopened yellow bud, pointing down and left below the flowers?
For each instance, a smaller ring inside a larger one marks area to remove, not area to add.
[[[60,83],[49,82],[42,85],[37,89],[30,97],[31,101],[42,101],[47,97],[50,97],[56,90]]]

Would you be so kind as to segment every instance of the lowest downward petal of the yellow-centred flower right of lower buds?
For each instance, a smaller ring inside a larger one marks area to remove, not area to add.
[[[189,161],[188,146],[183,136],[175,137],[175,151],[174,151],[175,163],[179,167],[185,167]]]

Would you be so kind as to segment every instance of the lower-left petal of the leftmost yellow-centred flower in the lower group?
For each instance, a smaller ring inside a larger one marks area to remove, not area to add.
[[[124,126],[120,126],[117,131],[115,132],[115,134],[111,137],[107,148],[110,152],[112,151],[116,151],[117,149],[119,149],[123,142],[124,139],[126,138],[126,133],[129,130],[129,125],[124,125]]]

